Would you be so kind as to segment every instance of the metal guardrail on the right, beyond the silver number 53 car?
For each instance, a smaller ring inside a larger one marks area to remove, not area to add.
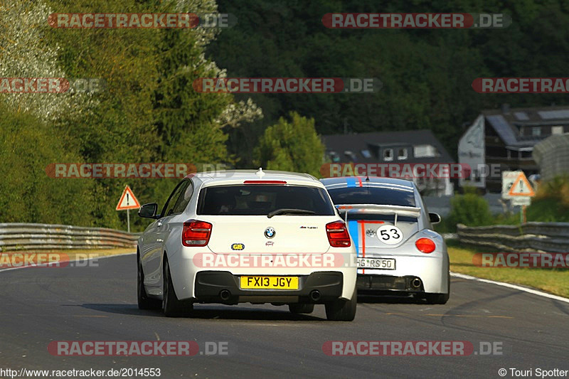
[[[569,223],[457,225],[460,242],[506,252],[569,252]]]

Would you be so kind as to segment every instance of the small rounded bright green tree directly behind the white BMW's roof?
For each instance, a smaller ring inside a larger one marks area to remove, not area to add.
[[[255,148],[255,165],[268,170],[306,172],[320,176],[324,145],[314,119],[290,112],[290,121],[281,117],[277,124],[268,127]]]

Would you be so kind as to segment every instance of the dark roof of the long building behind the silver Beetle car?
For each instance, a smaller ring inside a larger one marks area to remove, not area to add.
[[[454,163],[454,159],[447,152],[444,146],[435,137],[435,134],[429,129],[407,130],[399,132],[370,132],[360,134],[329,134],[322,136],[322,142],[326,146],[326,153],[330,151],[339,155],[339,162],[361,162],[361,163],[377,163],[381,161],[378,156],[378,149],[383,147],[393,148],[395,146],[418,146],[431,145],[434,146],[439,155],[431,157],[414,158],[411,154],[405,163]],[[370,157],[362,155],[363,150],[368,150]],[[345,151],[351,151],[356,156],[356,160],[351,159],[344,154]],[[395,159],[393,162],[400,162]]]

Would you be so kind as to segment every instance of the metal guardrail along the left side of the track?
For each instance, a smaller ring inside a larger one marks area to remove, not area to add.
[[[72,225],[0,223],[0,252],[136,247],[141,233]]]

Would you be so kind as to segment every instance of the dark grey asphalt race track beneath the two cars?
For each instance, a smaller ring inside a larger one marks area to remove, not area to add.
[[[510,368],[569,369],[569,304],[495,284],[452,278],[450,301],[431,306],[362,299],[353,322],[324,306],[198,305],[192,319],[139,311],[136,256],[99,267],[0,272],[0,368],[160,368],[160,378],[512,378]],[[227,356],[52,356],[50,341],[228,342]],[[499,342],[501,356],[326,356],[326,341]],[[534,376],[535,377],[535,376]]]

